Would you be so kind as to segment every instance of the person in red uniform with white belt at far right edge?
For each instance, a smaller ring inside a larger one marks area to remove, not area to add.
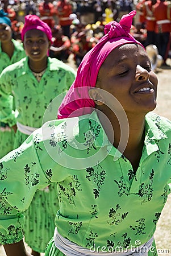
[[[170,4],[165,0],[160,0],[153,7],[156,18],[156,46],[159,49],[159,54],[164,59],[164,65],[167,65],[166,59],[170,48],[171,31]]]

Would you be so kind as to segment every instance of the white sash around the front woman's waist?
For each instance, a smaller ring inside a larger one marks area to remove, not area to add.
[[[152,243],[153,243],[153,237],[143,245],[140,245],[139,247],[133,247],[132,250],[124,249],[122,251],[122,248],[117,253],[115,252],[107,252],[107,251],[94,251],[94,246],[92,246],[92,249],[87,249],[82,246],[77,245],[76,243],[73,243],[69,241],[68,239],[62,237],[59,232],[57,232],[57,228],[55,228],[54,233],[54,241],[55,246],[57,249],[59,249],[62,253],[64,253],[66,256],[148,256],[148,251],[151,249]],[[102,249],[104,246],[102,247]],[[106,247],[107,249],[107,247]]]

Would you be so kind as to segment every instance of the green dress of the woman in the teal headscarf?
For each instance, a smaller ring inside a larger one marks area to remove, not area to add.
[[[16,61],[19,61],[23,57],[26,57],[26,53],[23,49],[23,44],[12,39],[12,43],[14,44],[14,53],[10,59],[9,55],[5,52],[2,52],[1,49],[1,41],[0,41],[0,73],[7,66],[14,64]],[[3,104],[1,105],[1,108]],[[14,139],[15,134],[14,131],[10,128],[4,129],[5,123],[1,123],[0,127],[0,158],[5,156],[8,152],[10,152],[14,148]]]

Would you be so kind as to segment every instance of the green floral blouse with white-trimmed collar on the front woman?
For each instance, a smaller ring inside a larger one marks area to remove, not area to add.
[[[60,208],[55,224],[63,237],[87,248],[147,242],[170,193],[171,123],[149,113],[145,131],[134,175],[128,159],[114,159],[117,150],[95,112],[45,123],[1,159],[0,242],[19,240],[17,214],[29,207],[37,189],[52,182],[57,183]],[[22,226],[22,218],[19,222]]]

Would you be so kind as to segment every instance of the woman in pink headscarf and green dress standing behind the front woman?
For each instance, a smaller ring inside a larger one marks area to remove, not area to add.
[[[48,57],[51,40],[51,28],[38,16],[27,15],[22,30],[22,42],[27,57],[2,72],[0,112],[10,126],[16,123],[13,149],[18,148],[32,131],[43,124],[44,112],[49,103],[68,90],[75,79],[72,68]],[[17,117],[12,112],[11,98],[14,99]],[[29,188],[36,185],[36,178],[32,177],[29,170],[26,170],[26,184]],[[22,191],[20,193],[22,195]],[[49,187],[47,185],[47,188],[36,192],[30,208],[24,213],[24,236],[32,248],[32,255],[44,253],[49,239],[53,236],[54,218],[58,209],[56,194],[56,184]]]

